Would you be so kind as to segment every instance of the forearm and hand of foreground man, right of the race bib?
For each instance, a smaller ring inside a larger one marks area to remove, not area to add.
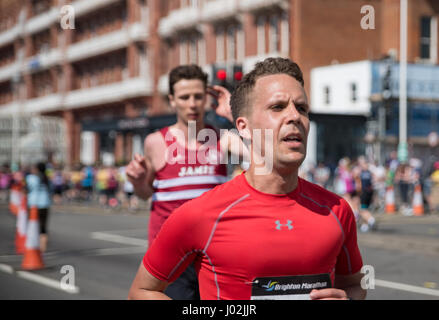
[[[335,275],[334,288],[311,291],[311,300],[364,300],[366,290],[361,288],[363,274]]]

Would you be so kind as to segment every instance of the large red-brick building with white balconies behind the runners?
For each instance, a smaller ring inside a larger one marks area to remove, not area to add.
[[[74,29],[61,28],[65,5]],[[360,26],[365,5],[375,29]],[[437,63],[438,15],[437,1],[409,0],[409,62]],[[314,67],[398,49],[399,0],[0,0],[0,116],[59,117],[68,164],[117,163],[172,121],[167,73],[178,64],[212,80],[213,65],[246,72],[290,57],[309,92]]]

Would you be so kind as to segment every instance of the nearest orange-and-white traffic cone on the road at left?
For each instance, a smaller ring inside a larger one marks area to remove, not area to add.
[[[38,222],[38,209],[36,207],[30,209],[26,233],[26,249],[24,250],[21,267],[24,270],[44,268],[40,251],[40,225]]]

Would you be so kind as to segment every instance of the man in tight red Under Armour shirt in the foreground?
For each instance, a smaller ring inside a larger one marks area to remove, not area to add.
[[[364,299],[352,210],[298,177],[309,131],[300,68],[283,58],[258,63],[231,107],[251,141],[249,169],[175,210],[129,298],[169,299],[164,289],[194,262],[202,299]]]

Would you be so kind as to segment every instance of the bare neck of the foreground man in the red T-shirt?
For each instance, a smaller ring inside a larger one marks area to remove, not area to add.
[[[245,173],[247,182],[256,190],[269,194],[286,194],[294,191],[299,183],[298,169],[273,170],[268,174],[257,174],[251,165]]]

